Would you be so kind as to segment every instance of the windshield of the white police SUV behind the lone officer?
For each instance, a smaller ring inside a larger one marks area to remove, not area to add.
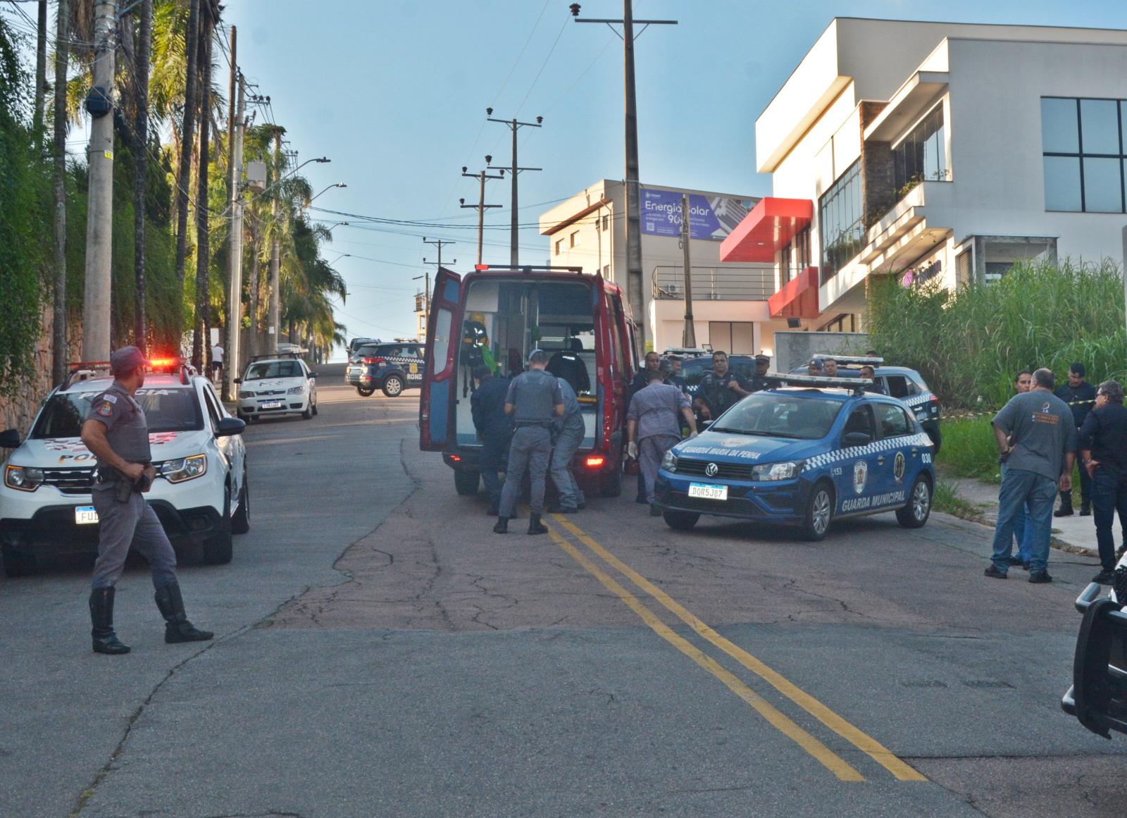
[[[32,437],[78,437],[90,401],[101,391],[55,394],[35,421]],[[203,412],[192,386],[139,389],[137,403],[144,409],[149,432],[189,432],[204,427]]]

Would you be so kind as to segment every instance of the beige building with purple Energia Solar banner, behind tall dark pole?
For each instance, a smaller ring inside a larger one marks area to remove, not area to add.
[[[721,240],[758,202],[751,196],[641,186],[644,304],[653,346],[682,346],[685,314],[681,196],[690,195],[690,267],[696,344],[730,353],[770,353],[775,329],[767,297],[775,291],[770,264],[724,264]],[[602,179],[540,216],[549,264],[602,273],[629,288],[625,263],[625,194],[621,181]],[[770,259],[767,259],[770,261]]]

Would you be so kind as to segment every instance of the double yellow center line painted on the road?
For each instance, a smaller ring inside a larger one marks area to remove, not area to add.
[[[745,668],[754,673],[760,678],[767,682],[777,691],[782,693],[784,696],[790,699],[792,702],[798,704],[805,711],[810,713],[814,718],[820,721],[823,724],[828,727],[831,730],[836,732],[838,736],[848,740],[854,747],[860,749],[862,753],[869,755],[873,761],[885,767],[899,781],[926,781],[920,772],[914,770],[912,766],[905,762],[897,758],[889,749],[877,741],[875,738],[868,733],[861,731],[841,715],[832,711],[825,704],[819,702],[817,699],[806,693],[792,682],[787,679],[784,676],[767,667],[765,664],[756,659],[754,656],[748,653],[746,650],[740,648],[738,644],[729,641],[728,639],[721,637],[712,628],[696,617],[694,614],[685,610],[680,603],[673,599],[664,590],[655,586],[638,571],[630,568],[618,557],[612,554],[605,548],[600,545],[595,540],[587,535],[582,528],[566,519],[562,515],[552,515],[559,525],[564,526],[576,540],[586,545],[591,551],[603,559],[607,564],[612,566],[619,570],[623,576],[630,579],[639,589],[649,594],[654,599],[660,603],[666,610],[673,613],[677,619],[687,624],[693,629],[700,637],[711,642],[713,646],[722,650],[725,653],[730,656],[733,659],[738,661]],[[770,702],[764,700],[757,693],[755,693],[751,687],[748,687],[744,682],[742,682],[737,676],[726,670],[721,667],[715,659],[712,659],[707,653],[702,652],[700,649],[694,647],[684,637],[674,632],[668,625],[662,622],[658,616],[650,611],[646,605],[644,605],[637,597],[635,597],[629,590],[623,588],[619,583],[616,583],[612,577],[605,574],[598,568],[586,554],[579,551],[575,545],[565,540],[558,532],[550,530],[549,534],[552,540],[559,545],[564,551],[566,551],[576,562],[578,562],[585,570],[587,570],[592,576],[594,576],[600,583],[606,587],[607,590],[613,593],[620,599],[622,599],[625,605],[633,611],[638,616],[645,622],[649,628],[657,633],[659,637],[668,641],[673,647],[680,650],[682,653],[691,658],[702,668],[711,673],[713,676],[719,678],[733,693],[747,702],[752,708],[756,710],[763,718],[771,723],[772,727],[778,729],[784,736],[798,744],[802,749],[809,753],[814,758],[826,766],[834,775],[836,775],[842,781],[864,781],[864,776],[861,775],[852,765],[850,765],[844,758],[838,756],[836,753],[826,747],[822,741],[811,736],[805,729],[802,729],[798,723],[792,721],[786,714],[777,710]]]

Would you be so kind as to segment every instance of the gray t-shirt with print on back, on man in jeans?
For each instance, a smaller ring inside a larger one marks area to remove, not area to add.
[[[1012,441],[1008,469],[1023,469],[1057,480],[1064,455],[1076,448],[1072,410],[1051,392],[1015,394],[994,416],[994,425]]]

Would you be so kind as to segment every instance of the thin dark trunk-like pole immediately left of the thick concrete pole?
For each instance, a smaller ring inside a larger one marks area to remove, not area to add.
[[[51,212],[54,230],[54,310],[51,332],[51,375],[57,386],[66,380],[66,61],[70,3],[59,0],[55,23],[54,189]]]

